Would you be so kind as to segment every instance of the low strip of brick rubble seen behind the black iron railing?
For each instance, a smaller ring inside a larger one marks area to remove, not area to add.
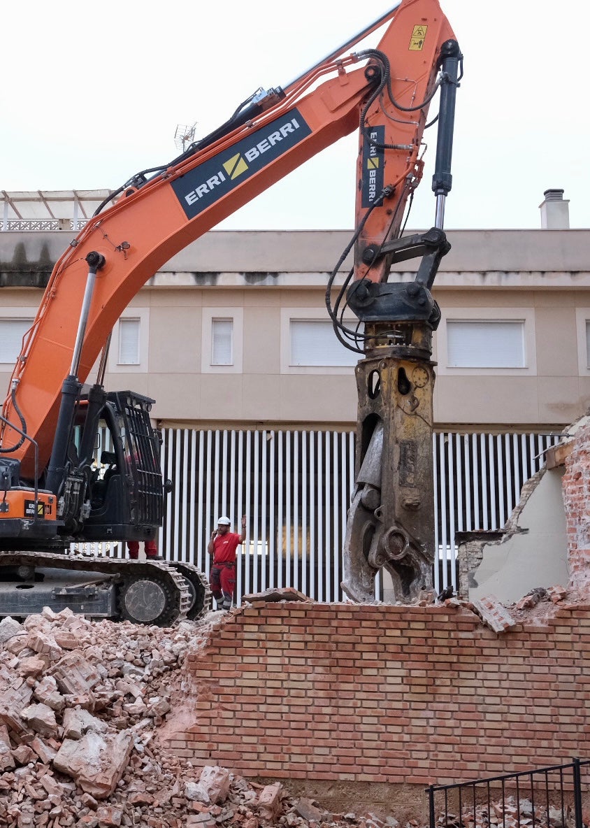
[[[468,794],[467,794],[468,796]],[[443,828],[568,828],[573,826],[571,806],[562,802],[555,806],[547,802],[546,792],[540,792],[537,797],[543,805],[533,805],[530,799],[519,799],[508,796],[503,801],[487,802],[475,808],[463,808],[461,816],[451,813],[441,813],[436,825]],[[558,797],[559,798],[559,797]],[[588,821],[584,818],[584,825]]]

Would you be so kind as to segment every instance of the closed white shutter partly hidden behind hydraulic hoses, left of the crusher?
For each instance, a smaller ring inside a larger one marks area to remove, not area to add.
[[[328,320],[290,320],[290,345],[291,365],[338,368],[356,365],[361,359],[361,354],[348,350],[336,338]]]

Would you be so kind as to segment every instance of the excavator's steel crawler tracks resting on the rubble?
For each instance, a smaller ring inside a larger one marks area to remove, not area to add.
[[[204,575],[189,564],[127,561],[76,553],[0,552],[0,578],[2,570],[7,570],[8,567],[18,570],[22,578],[22,583],[17,584],[15,590],[32,590],[36,584],[37,570],[68,570],[88,574],[89,584],[96,584],[100,575],[104,575],[106,585],[114,585],[116,602],[111,614],[100,612],[97,615],[113,620],[127,619],[133,623],[168,627],[186,618],[198,618],[207,611],[207,603],[210,605],[211,600]],[[2,581],[0,586],[7,587]],[[70,590],[75,592],[82,588],[89,589],[88,585],[82,585],[70,587]],[[60,590],[58,595],[60,605],[56,609],[62,609],[67,605],[68,587]],[[92,609],[84,610],[84,605],[77,611],[93,616]]]

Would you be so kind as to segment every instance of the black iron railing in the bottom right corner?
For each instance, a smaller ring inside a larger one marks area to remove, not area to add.
[[[590,760],[430,785],[429,828],[584,828]],[[588,826],[586,826],[588,828]]]

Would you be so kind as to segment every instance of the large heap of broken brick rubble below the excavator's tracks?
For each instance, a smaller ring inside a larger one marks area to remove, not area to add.
[[[2,619],[0,828],[396,828],[162,749],[185,655],[220,620],[161,629],[48,608]]]

